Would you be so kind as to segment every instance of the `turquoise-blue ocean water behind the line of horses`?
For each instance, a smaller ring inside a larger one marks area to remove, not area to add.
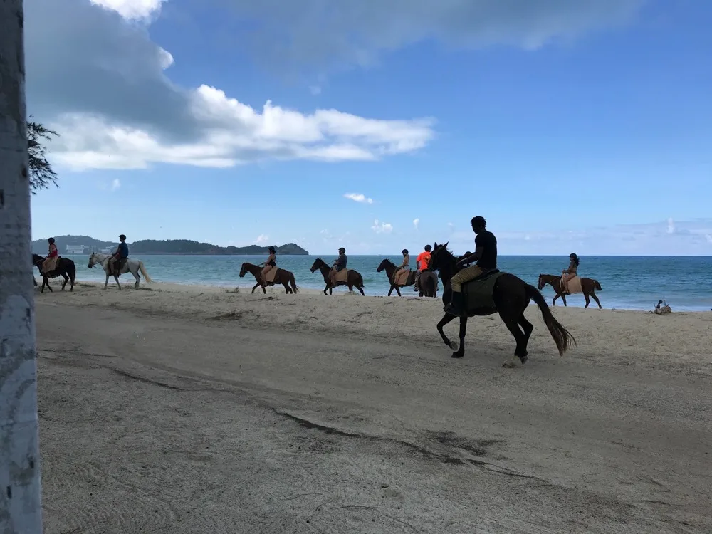
[[[87,267],[89,257],[72,258],[77,265],[77,278],[86,281],[104,281],[103,271]],[[206,286],[251,288],[254,278],[248,273],[239,278],[244,261],[261,263],[263,256],[132,256],[140,258],[151,278],[157,282],[188,283]],[[377,273],[381,260],[388,257],[394,263],[400,255],[349,256],[349,267],[364,278],[367,295],[386,295],[388,283],[384,272]],[[297,285],[303,288],[323,289],[320,273],[311,273],[316,256],[278,256],[278,266],[294,273]],[[323,256],[331,263],[335,256]],[[540,273],[556,274],[568,265],[566,256],[500,256],[499,268],[513,273],[536,286]],[[652,310],[664,298],[674,311],[710,311],[712,309],[712,256],[583,256],[579,267],[581,276],[597,279],[603,290],[597,292],[604,308]],[[125,279],[125,276],[122,276]],[[339,288],[336,291],[345,291]],[[439,289],[440,296],[442,288]],[[415,295],[412,288],[401,290],[403,295]],[[554,296],[547,286],[543,293],[548,302]],[[393,293],[395,295],[395,293]],[[567,298],[570,306],[583,306],[583,295]],[[560,300],[557,301],[560,305]],[[595,302],[591,303],[596,306]]]

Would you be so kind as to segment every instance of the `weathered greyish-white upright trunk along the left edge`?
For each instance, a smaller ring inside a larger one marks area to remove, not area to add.
[[[22,0],[0,1],[0,533],[40,534]]]

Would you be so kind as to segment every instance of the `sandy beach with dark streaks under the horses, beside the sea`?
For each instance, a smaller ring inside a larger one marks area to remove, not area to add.
[[[712,313],[557,306],[559,357],[530,305],[504,369],[497,316],[449,357],[439,299],[53,287],[47,533],[712,531]]]

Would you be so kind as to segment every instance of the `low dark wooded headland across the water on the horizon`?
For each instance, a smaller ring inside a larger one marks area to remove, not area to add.
[[[116,250],[118,241],[100,241],[90,236],[53,236],[60,255],[90,254],[92,252],[110,253]],[[282,256],[308,256],[309,253],[294,243],[275,246]],[[47,253],[47,239],[32,241],[32,251]],[[129,244],[130,254],[176,254],[182,256],[256,256],[267,254],[266,246],[217,246],[199,243],[189,239],[142,239]]]

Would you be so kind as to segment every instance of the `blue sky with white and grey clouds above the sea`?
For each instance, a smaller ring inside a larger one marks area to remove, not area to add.
[[[34,239],[712,253],[712,2],[24,4]]]

